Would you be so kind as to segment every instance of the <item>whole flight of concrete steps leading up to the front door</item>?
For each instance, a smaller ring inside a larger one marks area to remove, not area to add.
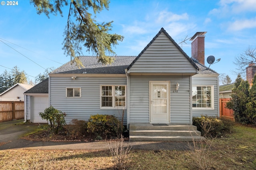
[[[201,132],[194,125],[131,123],[130,141],[200,141]]]

